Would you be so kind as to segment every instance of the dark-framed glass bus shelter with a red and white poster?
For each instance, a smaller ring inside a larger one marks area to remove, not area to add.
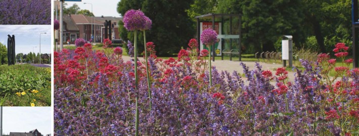
[[[195,17],[197,19],[197,41],[200,50],[207,49],[200,41],[203,30],[212,28],[218,34],[217,42],[212,46],[212,56],[229,55],[230,60],[238,55],[241,61],[241,14],[206,14]],[[212,57],[214,61],[214,57]]]

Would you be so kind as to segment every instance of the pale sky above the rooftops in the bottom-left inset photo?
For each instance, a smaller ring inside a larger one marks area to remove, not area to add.
[[[37,129],[43,135],[53,135],[51,118],[51,107],[3,107],[3,133]]]

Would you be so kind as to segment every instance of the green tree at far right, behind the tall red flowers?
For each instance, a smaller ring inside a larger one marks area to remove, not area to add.
[[[337,42],[351,43],[350,0],[304,0],[304,27],[317,40],[321,52],[331,52]]]

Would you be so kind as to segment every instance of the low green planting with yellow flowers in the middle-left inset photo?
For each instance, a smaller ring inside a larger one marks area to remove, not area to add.
[[[0,95],[4,106],[51,105],[51,69],[24,65],[0,65]],[[38,90],[38,93],[32,93]],[[18,96],[16,93],[25,92]],[[21,98],[20,98],[21,97]],[[33,101],[36,100],[36,102]]]

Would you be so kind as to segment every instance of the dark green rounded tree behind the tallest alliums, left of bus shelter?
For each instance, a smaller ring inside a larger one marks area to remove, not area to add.
[[[168,55],[177,53],[183,46],[187,46],[188,41],[194,37],[194,22],[188,17],[185,10],[190,9],[193,1],[126,1],[118,3],[117,11],[122,16],[127,10],[141,9],[146,16],[152,20],[151,30],[146,31],[147,41],[152,41],[156,45],[158,55]],[[125,32],[120,25],[120,32]],[[127,34],[126,34],[127,33]],[[126,32],[120,36],[126,41],[133,42],[133,33]],[[127,35],[127,36],[125,36]],[[127,38],[125,38],[127,37]],[[143,32],[139,33],[139,41],[143,41]],[[138,43],[139,52],[144,49],[144,43]]]

